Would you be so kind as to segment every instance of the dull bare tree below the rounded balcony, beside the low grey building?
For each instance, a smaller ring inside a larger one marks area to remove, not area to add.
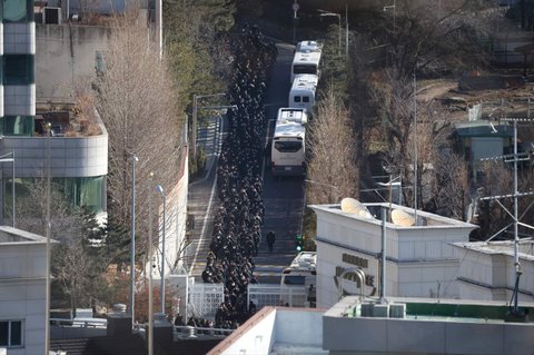
[[[93,300],[109,300],[109,287],[103,277],[109,260],[101,254],[103,246],[92,247],[89,243],[99,234],[97,223],[91,214],[73,206],[56,184],[51,186],[48,200],[47,178],[42,174],[32,184],[26,184],[19,195],[18,227],[44,235],[48,203],[52,214],[50,234],[59,241],[53,246],[51,260],[55,304],[65,305],[68,298],[68,305],[76,308],[89,307]]]

